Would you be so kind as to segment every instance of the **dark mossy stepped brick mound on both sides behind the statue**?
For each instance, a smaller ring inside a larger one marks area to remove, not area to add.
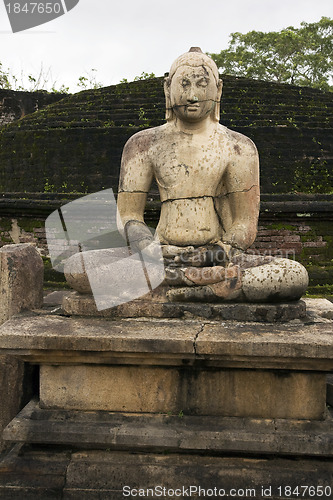
[[[332,192],[332,93],[223,79],[221,123],[256,143],[262,192]],[[163,123],[164,108],[163,79],[154,78],[68,96],[3,126],[0,188],[116,190],[126,140]]]

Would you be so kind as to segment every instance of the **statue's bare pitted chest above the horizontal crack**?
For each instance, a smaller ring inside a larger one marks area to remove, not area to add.
[[[184,184],[216,186],[225,168],[222,152],[214,141],[164,144],[154,154],[153,163],[156,180],[165,188]]]

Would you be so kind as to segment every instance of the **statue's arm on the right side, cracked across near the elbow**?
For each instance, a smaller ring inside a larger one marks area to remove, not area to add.
[[[252,141],[242,143],[241,154],[229,165],[225,174],[225,211],[223,241],[246,250],[255,240],[259,217],[259,157]]]

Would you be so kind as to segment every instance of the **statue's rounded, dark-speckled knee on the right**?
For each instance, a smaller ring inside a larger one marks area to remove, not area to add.
[[[302,264],[289,259],[274,259],[244,271],[242,289],[248,301],[297,300],[306,291],[308,283],[308,273]]]

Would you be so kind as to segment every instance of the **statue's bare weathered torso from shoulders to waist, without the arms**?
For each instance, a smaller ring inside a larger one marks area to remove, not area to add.
[[[161,243],[204,245],[221,240],[223,221],[216,202],[227,193],[227,169],[250,141],[219,124],[203,133],[181,132],[181,141],[174,124],[151,133],[146,153],[162,201],[157,227]]]

